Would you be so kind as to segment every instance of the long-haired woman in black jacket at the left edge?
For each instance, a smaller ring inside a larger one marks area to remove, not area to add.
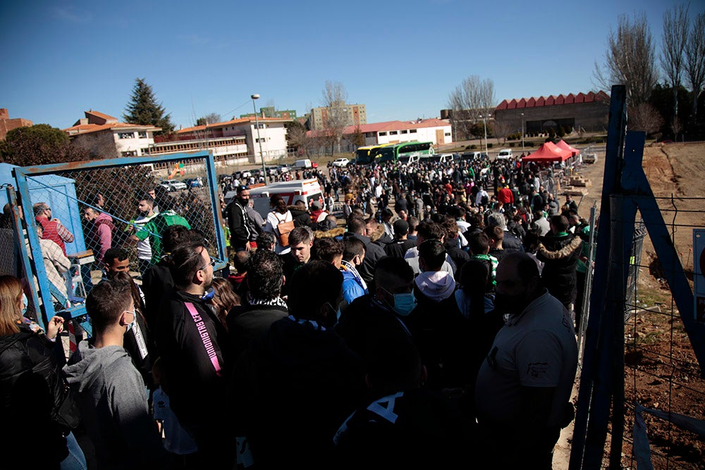
[[[35,333],[23,316],[26,307],[20,280],[0,276],[0,439],[14,449],[27,447],[30,435],[42,443],[42,449],[27,455],[27,465],[85,469],[71,433],[78,412],[61,376],[65,359],[56,335],[63,330],[63,318],[51,317],[46,333]]]

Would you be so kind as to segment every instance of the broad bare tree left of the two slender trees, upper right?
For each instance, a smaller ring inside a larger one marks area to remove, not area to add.
[[[617,31],[610,29],[607,38],[605,64],[602,70],[595,63],[594,79],[606,91],[611,85],[624,84],[630,106],[637,106],[649,100],[651,91],[658,81],[654,60],[654,44],[646,15],[635,16],[633,22],[622,15]]]

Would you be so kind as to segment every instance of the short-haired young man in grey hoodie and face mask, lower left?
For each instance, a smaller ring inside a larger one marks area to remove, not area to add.
[[[77,394],[97,467],[158,468],[164,451],[149,414],[145,383],[123,347],[125,333],[135,323],[130,285],[99,283],[86,299],[86,311],[94,336],[79,343],[63,373]]]

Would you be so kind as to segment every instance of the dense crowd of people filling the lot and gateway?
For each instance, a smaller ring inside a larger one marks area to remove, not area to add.
[[[4,409],[20,413],[27,381],[47,384],[32,428],[51,437],[44,466],[62,469],[551,468],[572,420],[591,228],[540,171],[329,168],[310,173],[323,200],[275,194],[266,216],[237,181],[219,272],[199,228],[155,218],[147,194],[130,237],[141,282],[131,245],[94,250],[93,334],[75,352],[54,354],[61,316],[46,330],[27,319],[33,286],[0,277]]]

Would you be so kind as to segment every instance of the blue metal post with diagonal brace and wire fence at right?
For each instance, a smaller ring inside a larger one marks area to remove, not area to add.
[[[688,276],[705,198],[654,197],[623,85],[611,101],[570,469],[703,468],[705,324]]]

